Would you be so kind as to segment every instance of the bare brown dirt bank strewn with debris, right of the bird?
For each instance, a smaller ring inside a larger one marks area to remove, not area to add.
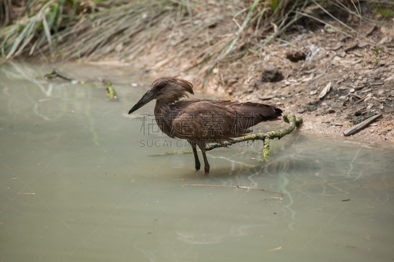
[[[272,43],[258,55],[214,68],[203,88],[232,100],[276,104],[286,114],[301,116],[304,132],[393,146],[394,29],[369,25],[360,35],[364,38],[325,28],[295,29],[287,36],[288,43]],[[180,60],[188,58],[185,54]],[[179,67],[174,61],[153,72],[174,75],[177,69],[182,71]],[[177,76],[198,87],[202,80],[196,80],[194,72]],[[376,114],[382,116],[344,136],[343,131]]]

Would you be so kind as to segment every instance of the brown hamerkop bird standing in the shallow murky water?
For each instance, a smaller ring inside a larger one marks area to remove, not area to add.
[[[193,85],[173,77],[156,79],[142,98],[130,109],[133,113],[156,99],[155,120],[160,130],[171,138],[186,139],[193,148],[196,170],[200,169],[198,146],[204,159],[205,174],[209,164],[205,155],[208,143],[223,143],[249,133],[249,128],[264,121],[278,120],[282,110],[275,106],[232,102],[230,100],[188,99]]]

